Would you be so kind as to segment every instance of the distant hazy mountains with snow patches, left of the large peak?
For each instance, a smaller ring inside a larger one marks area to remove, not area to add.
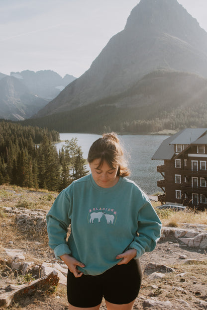
[[[75,78],[51,70],[0,73],[0,118],[24,120],[42,109]]]

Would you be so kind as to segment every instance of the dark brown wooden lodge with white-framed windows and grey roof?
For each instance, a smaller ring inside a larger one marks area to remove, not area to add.
[[[157,166],[163,179],[161,203],[173,203],[198,210],[207,208],[207,128],[187,128],[167,138],[152,159],[164,160]]]

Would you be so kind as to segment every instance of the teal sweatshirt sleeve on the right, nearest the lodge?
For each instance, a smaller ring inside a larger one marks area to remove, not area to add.
[[[137,255],[134,259],[139,258],[144,252],[151,252],[154,250],[157,241],[160,238],[162,223],[146,198],[143,206],[138,212],[138,229],[137,236],[130,243],[128,249],[134,248],[137,251]]]

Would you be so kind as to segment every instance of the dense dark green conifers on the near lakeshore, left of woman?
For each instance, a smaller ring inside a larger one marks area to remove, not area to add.
[[[60,152],[55,130],[0,121],[0,184],[61,191],[89,171],[76,138]]]

